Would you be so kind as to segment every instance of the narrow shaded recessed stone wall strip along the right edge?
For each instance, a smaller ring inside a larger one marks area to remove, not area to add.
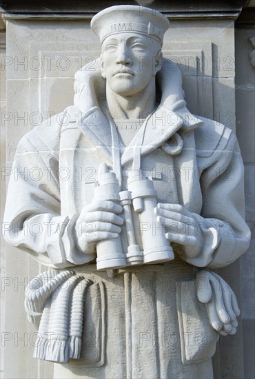
[[[245,164],[246,219],[253,232],[248,252],[240,259],[245,378],[254,371],[254,151],[255,151],[255,3],[246,1],[236,21],[236,134]]]

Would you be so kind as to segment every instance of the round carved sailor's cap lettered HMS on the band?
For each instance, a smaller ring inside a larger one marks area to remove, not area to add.
[[[111,34],[136,32],[163,43],[169,21],[156,10],[142,6],[112,6],[101,10],[91,20],[91,28],[101,43]]]

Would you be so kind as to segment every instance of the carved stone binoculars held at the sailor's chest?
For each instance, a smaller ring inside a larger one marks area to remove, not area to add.
[[[174,259],[169,240],[165,238],[165,227],[156,221],[154,208],[157,205],[156,191],[149,178],[143,178],[141,170],[128,172],[128,190],[121,191],[114,172],[109,172],[103,163],[99,167],[99,183],[94,188],[94,198],[114,201],[123,207],[128,240],[123,252],[121,236],[101,240],[96,244],[96,267],[98,270],[118,269],[130,265],[167,262]],[[149,225],[141,232],[142,247],[136,244],[132,213],[138,214],[139,225]],[[151,227],[151,226],[154,227]]]

